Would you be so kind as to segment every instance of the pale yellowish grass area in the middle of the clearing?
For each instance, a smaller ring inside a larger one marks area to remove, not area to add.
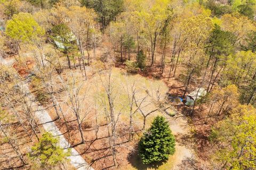
[[[99,74],[94,74],[94,76],[87,81],[82,81],[83,78],[81,74],[67,73],[67,82],[69,83],[69,86],[71,86],[70,84],[73,80],[71,80],[71,75],[69,74],[72,74],[75,77],[76,84],[72,86],[75,86],[76,88],[81,87],[81,90],[79,91],[79,98],[83,100],[81,103],[81,108],[83,110],[89,108],[96,110],[99,113],[98,121],[102,123],[105,121],[104,109],[106,107],[109,109],[105,89],[107,88],[109,82],[111,88],[111,97],[114,100],[115,113],[122,113],[120,115],[120,122],[123,123],[129,122],[129,102],[132,100],[132,88],[136,91],[135,98],[138,100],[138,102],[146,97],[141,105],[141,109],[145,113],[149,113],[154,109],[157,109],[158,103],[164,101],[165,94],[168,91],[168,88],[163,81],[150,80],[145,77],[141,77],[141,75],[127,75],[125,72],[122,72],[119,69],[112,69],[111,72],[102,71]],[[67,96],[64,100],[65,102],[68,101]],[[135,104],[133,104],[132,112],[134,112],[135,109],[137,109],[137,107]],[[148,116],[147,126],[157,114],[160,113],[155,112],[154,114]],[[143,123],[143,116],[140,112],[137,111],[133,115],[133,118],[136,123],[140,125]]]

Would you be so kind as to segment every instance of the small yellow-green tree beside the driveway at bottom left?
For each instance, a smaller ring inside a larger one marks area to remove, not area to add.
[[[70,156],[70,150],[65,151],[59,145],[59,138],[53,137],[49,132],[43,134],[28,154],[29,158],[34,161],[35,166],[52,168],[60,163],[66,162]]]

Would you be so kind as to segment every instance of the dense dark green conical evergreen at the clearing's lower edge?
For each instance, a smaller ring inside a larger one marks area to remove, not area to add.
[[[139,143],[142,163],[151,164],[167,160],[174,152],[175,139],[169,124],[163,116],[157,116]]]

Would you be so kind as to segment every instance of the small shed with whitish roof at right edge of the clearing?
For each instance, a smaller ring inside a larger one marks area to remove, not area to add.
[[[193,106],[196,100],[201,99],[202,97],[206,96],[206,94],[207,91],[204,88],[198,88],[190,92],[190,94],[188,94],[186,97],[185,105]]]

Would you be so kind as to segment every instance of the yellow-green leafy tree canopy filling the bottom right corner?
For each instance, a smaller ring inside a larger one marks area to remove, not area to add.
[[[256,116],[252,106],[241,105],[213,130],[215,140],[223,146],[215,159],[231,169],[250,169],[256,166]],[[225,147],[224,147],[225,146]]]

